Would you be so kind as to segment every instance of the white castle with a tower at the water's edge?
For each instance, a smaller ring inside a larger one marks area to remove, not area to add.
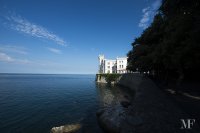
[[[104,55],[99,55],[99,73],[126,73],[126,67],[127,57],[109,60]]]

